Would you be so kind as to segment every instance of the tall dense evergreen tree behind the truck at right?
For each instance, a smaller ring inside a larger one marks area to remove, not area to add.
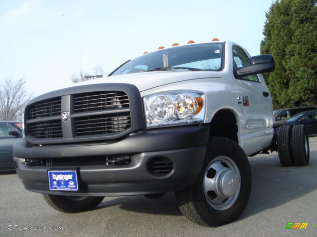
[[[317,100],[317,1],[280,0],[266,14],[261,54],[276,69],[264,75],[274,108],[314,105]]]

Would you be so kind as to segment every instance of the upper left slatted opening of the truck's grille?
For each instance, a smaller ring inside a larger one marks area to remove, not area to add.
[[[29,107],[28,119],[61,115],[61,97],[43,100]]]

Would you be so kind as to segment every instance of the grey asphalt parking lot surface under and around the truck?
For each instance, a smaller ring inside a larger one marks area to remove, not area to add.
[[[276,153],[249,158],[249,204],[236,222],[218,228],[187,220],[173,193],[158,200],[106,197],[96,210],[61,213],[49,207],[41,194],[26,191],[15,173],[3,173],[0,236],[316,236],[317,137],[309,141],[306,167],[281,167]],[[309,224],[306,229],[285,229],[288,222]],[[44,230],[44,226],[62,230]],[[32,229],[23,230],[25,227]]]

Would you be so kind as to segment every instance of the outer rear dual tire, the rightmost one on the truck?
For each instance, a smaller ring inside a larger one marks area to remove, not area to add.
[[[305,166],[309,163],[309,142],[304,125],[293,126],[292,148],[295,165]]]

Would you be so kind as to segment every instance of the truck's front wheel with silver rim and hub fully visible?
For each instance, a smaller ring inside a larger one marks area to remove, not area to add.
[[[196,182],[175,196],[189,220],[215,227],[237,219],[250,192],[251,169],[243,149],[228,138],[211,137]]]

